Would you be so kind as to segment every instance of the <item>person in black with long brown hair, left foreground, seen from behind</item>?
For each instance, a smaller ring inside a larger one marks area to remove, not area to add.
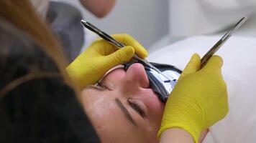
[[[0,0],[0,142],[99,142],[66,79],[29,1]]]

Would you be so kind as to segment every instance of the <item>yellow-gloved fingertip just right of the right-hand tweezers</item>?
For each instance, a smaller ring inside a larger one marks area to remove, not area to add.
[[[223,64],[223,60],[220,56],[214,55],[211,56],[209,61],[207,61],[206,65],[203,67],[202,71],[214,71],[216,73],[221,74],[221,66]]]

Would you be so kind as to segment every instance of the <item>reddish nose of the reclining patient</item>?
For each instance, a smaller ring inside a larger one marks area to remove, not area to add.
[[[147,78],[144,66],[140,63],[135,63],[129,66],[127,73],[122,79],[124,87],[134,87],[134,88],[149,88],[150,81]]]

